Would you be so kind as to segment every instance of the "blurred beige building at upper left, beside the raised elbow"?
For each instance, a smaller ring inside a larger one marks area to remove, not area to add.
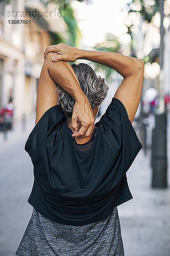
[[[68,33],[54,4],[45,0],[0,3],[0,108],[12,97],[15,121],[35,111],[43,52],[56,37],[65,40]]]

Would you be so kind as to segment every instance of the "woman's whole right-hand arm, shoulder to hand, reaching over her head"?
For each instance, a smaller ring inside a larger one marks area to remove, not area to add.
[[[114,97],[125,105],[130,122],[133,122],[142,94],[144,61],[116,52],[89,51],[65,44],[48,47],[44,55],[49,51],[59,53],[54,61],[86,59],[116,70],[124,79]]]

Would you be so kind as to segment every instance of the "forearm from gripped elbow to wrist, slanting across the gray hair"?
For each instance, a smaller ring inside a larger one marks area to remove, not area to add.
[[[87,97],[80,87],[79,81],[74,73],[73,68],[66,61],[51,61],[51,56],[55,54],[56,53],[48,53],[45,58],[49,75],[56,84],[61,86],[76,101],[85,100]]]

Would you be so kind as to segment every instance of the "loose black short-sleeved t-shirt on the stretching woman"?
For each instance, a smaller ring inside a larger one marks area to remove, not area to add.
[[[58,223],[85,225],[133,198],[126,172],[142,144],[115,97],[87,143],[76,143],[65,121],[58,105],[49,108],[26,141],[34,166],[28,203]]]

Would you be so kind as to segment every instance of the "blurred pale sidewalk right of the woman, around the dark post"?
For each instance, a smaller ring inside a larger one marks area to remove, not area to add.
[[[167,128],[167,188],[151,188],[150,149],[127,171],[133,199],[118,206],[125,256],[170,256],[170,116]]]

